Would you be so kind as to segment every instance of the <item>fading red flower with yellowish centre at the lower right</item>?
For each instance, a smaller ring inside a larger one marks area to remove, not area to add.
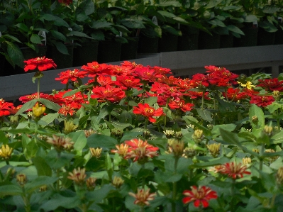
[[[241,163],[236,164],[234,162],[227,162],[223,164],[220,168],[218,167],[217,172],[221,174],[227,174],[228,177],[232,177],[233,179],[242,178],[243,174],[251,174],[246,171],[248,167],[246,165],[242,165]]]

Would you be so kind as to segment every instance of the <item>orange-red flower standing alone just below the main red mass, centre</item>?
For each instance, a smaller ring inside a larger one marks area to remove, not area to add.
[[[150,107],[148,104],[138,104],[137,107],[133,107],[133,113],[134,114],[140,114],[142,116],[145,116],[148,118],[148,120],[152,123],[156,122],[156,119],[153,118],[153,116],[162,116],[163,109],[158,108],[155,110],[155,108]]]

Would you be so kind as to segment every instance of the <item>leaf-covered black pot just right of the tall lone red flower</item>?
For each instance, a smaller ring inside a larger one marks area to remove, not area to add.
[[[55,46],[48,47],[48,58],[51,58],[57,65],[57,69],[73,67],[74,45],[66,44],[69,55],[62,54]]]

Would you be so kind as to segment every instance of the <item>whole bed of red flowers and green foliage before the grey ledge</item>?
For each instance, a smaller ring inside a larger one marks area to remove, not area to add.
[[[0,101],[3,211],[282,211],[282,75],[90,62],[40,93],[52,67]]]

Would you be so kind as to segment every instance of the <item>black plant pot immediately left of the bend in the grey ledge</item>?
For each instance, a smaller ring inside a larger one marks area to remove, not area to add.
[[[145,35],[140,35],[138,41],[138,53],[158,53],[159,38],[150,38]]]

